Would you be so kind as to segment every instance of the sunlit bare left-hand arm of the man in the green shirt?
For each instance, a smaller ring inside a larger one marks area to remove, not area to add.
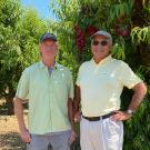
[[[22,104],[21,99],[19,98],[14,98],[13,99],[13,103],[14,103],[14,113],[17,116],[18,119],[18,124],[19,124],[19,130],[20,130],[20,134],[21,134],[21,139],[24,142],[30,142],[31,141],[31,137],[29,131],[26,128],[26,123],[24,123],[24,119],[23,119],[23,104]]]

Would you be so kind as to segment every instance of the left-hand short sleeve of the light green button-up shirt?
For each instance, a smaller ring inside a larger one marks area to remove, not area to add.
[[[29,70],[24,70],[18,83],[16,97],[19,99],[27,99],[29,93]]]

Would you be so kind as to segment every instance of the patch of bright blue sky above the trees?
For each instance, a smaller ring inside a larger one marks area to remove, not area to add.
[[[24,7],[31,7],[38,10],[39,16],[44,19],[53,19],[56,20],[56,17],[52,12],[52,10],[49,9],[49,1],[50,0],[22,0],[22,4]]]

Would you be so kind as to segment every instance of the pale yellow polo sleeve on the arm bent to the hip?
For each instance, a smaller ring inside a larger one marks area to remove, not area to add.
[[[136,84],[142,82],[126,62],[121,63],[120,73],[122,84],[129,89],[132,89]]]

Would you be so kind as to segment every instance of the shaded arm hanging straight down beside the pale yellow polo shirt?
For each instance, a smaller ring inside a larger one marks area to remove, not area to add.
[[[76,86],[74,89],[74,99],[73,99],[73,114],[74,114],[74,120],[77,122],[80,121],[80,101],[81,101],[81,93],[80,93],[80,87]]]

